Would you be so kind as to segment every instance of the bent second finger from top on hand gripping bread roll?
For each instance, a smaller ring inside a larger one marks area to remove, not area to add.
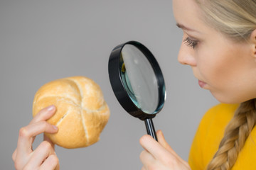
[[[55,133],[57,131],[58,128],[55,127],[55,125],[50,125],[50,123],[47,123],[46,121],[33,123],[21,128],[18,137],[17,157],[26,157],[27,154],[32,152],[32,137],[35,137],[42,132]]]

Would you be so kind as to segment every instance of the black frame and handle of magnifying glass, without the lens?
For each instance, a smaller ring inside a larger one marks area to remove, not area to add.
[[[127,93],[127,89],[125,89],[127,84],[122,81],[122,67],[124,63],[122,61],[121,52],[124,45],[128,45],[128,44],[134,45],[135,47],[137,47],[137,49],[144,54],[146,59],[151,64],[152,69],[154,70],[154,74],[156,76],[156,81],[158,85],[158,94],[159,94],[158,106],[156,107],[156,110],[154,111],[154,113],[145,113],[144,111],[142,111],[141,108],[138,108],[136,104],[132,101],[129,94]],[[156,61],[154,55],[152,55],[152,53],[140,42],[137,42],[137,41],[125,42],[121,45],[117,45],[117,47],[114,47],[114,49],[112,50],[110,55],[110,60],[108,63],[108,72],[110,77],[110,84],[114,91],[114,95],[116,96],[121,106],[130,115],[133,115],[134,117],[139,118],[140,120],[144,120],[147,133],[152,137],[154,137],[154,139],[157,141],[152,118],[154,118],[156,114],[159,113],[159,111],[161,111],[161,109],[164,106],[164,101],[166,99],[166,89],[165,89],[163,74],[161,72],[159,64]]]

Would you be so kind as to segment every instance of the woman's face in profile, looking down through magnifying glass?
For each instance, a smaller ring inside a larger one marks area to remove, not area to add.
[[[183,30],[178,62],[192,67],[199,86],[223,103],[256,98],[255,45],[233,42],[210,28],[194,0],[173,0],[173,8]]]

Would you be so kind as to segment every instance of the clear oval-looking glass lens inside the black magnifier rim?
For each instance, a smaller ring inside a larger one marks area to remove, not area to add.
[[[159,105],[159,85],[149,60],[134,45],[124,45],[120,57],[121,78],[133,103],[154,114]]]

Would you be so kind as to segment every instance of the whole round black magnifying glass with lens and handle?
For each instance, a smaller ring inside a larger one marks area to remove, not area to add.
[[[117,45],[108,64],[110,84],[130,115],[144,120],[147,134],[157,141],[152,118],[164,106],[164,77],[154,55],[140,42]]]

